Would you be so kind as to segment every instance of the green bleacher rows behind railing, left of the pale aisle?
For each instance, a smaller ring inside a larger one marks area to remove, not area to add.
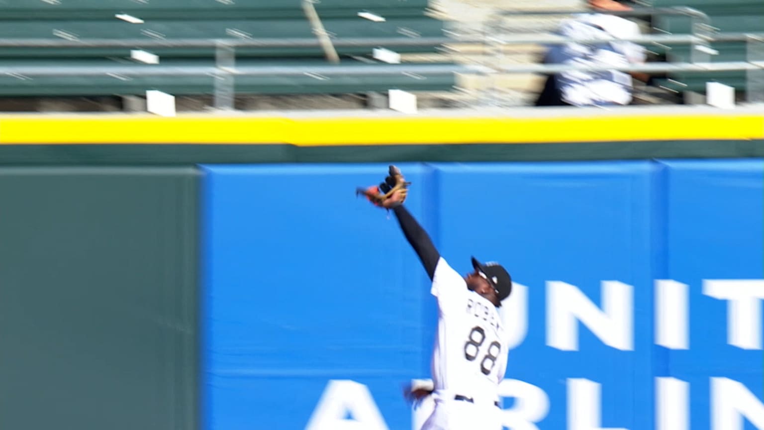
[[[0,4],[0,38],[124,40],[215,40],[280,41],[316,39],[303,11],[301,0],[6,0]],[[239,94],[290,93],[367,93],[401,89],[408,91],[452,90],[453,74],[374,73],[384,63],[374,60],[374,47],[399,53],[432,53],[438,44],[401,46],[395,41],[416,37],[445,37],[443,23],[426,15],[427,0],[322,0],[315,8],[325,30],[335,40],[375,38],[389,40],[378,46],[340,46],[337,53],[342,67],[353,67],[351,76],[316,77],[310,75],[235,78]],[[367,11],[384,17],[370,21],[358,16]],[[115,18],[131,15],[143,22],[131,23]],[[132,49],[144,49],[160,57],[160,66],[215,66],[214,47],[152,47],[140,44],[125,47],[0,47],[0,66],[6,67],[108,67],[131,70],[157,67],[131,60]],[[330,65],[320,46],[237,47],[240,66]],[[424,67],[430,65],[423,64]],[[442,66],[432,64],[433,67]],[[366,73],[364,70],[368,70]],[[141,95],[146,90],[173,94],[209,94],[214,77],[0,77],[0,96],[108,96]]]

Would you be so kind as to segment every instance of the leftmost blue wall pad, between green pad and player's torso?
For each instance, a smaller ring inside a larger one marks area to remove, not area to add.
[[[401,167],[426,187],[429,168]],[[329,380],[369,386],[405,428],[426,275],[396,221],[354,197],[386,168],[206,167],[206,428],[303,428]],[[419,216],[429,200],[408,201]]]

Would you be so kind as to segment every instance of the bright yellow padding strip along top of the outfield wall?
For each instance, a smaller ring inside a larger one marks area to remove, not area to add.
[[[762,138],[764,114],[331,119],[0,116],[0,144],[289,143],[319,146]]]

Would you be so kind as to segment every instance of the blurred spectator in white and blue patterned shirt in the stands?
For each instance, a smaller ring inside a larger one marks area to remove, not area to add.
[[[626,0],[588,0],[594,11],[576,15],[559,25],[556,34],[571,38],[597,40],[639,37],[639,26],[626,18],[596,13],[597,11],[630,11],[632,2]],[[568,43],[552,45],[545,52],[544,64],[628,65],[643,64],[643,47],[628,41],[602,43]],[[570,71],[547,78],[536,106],[612,106],[632,103],[632,78],[646,81],[643,73],[620,71]]]

